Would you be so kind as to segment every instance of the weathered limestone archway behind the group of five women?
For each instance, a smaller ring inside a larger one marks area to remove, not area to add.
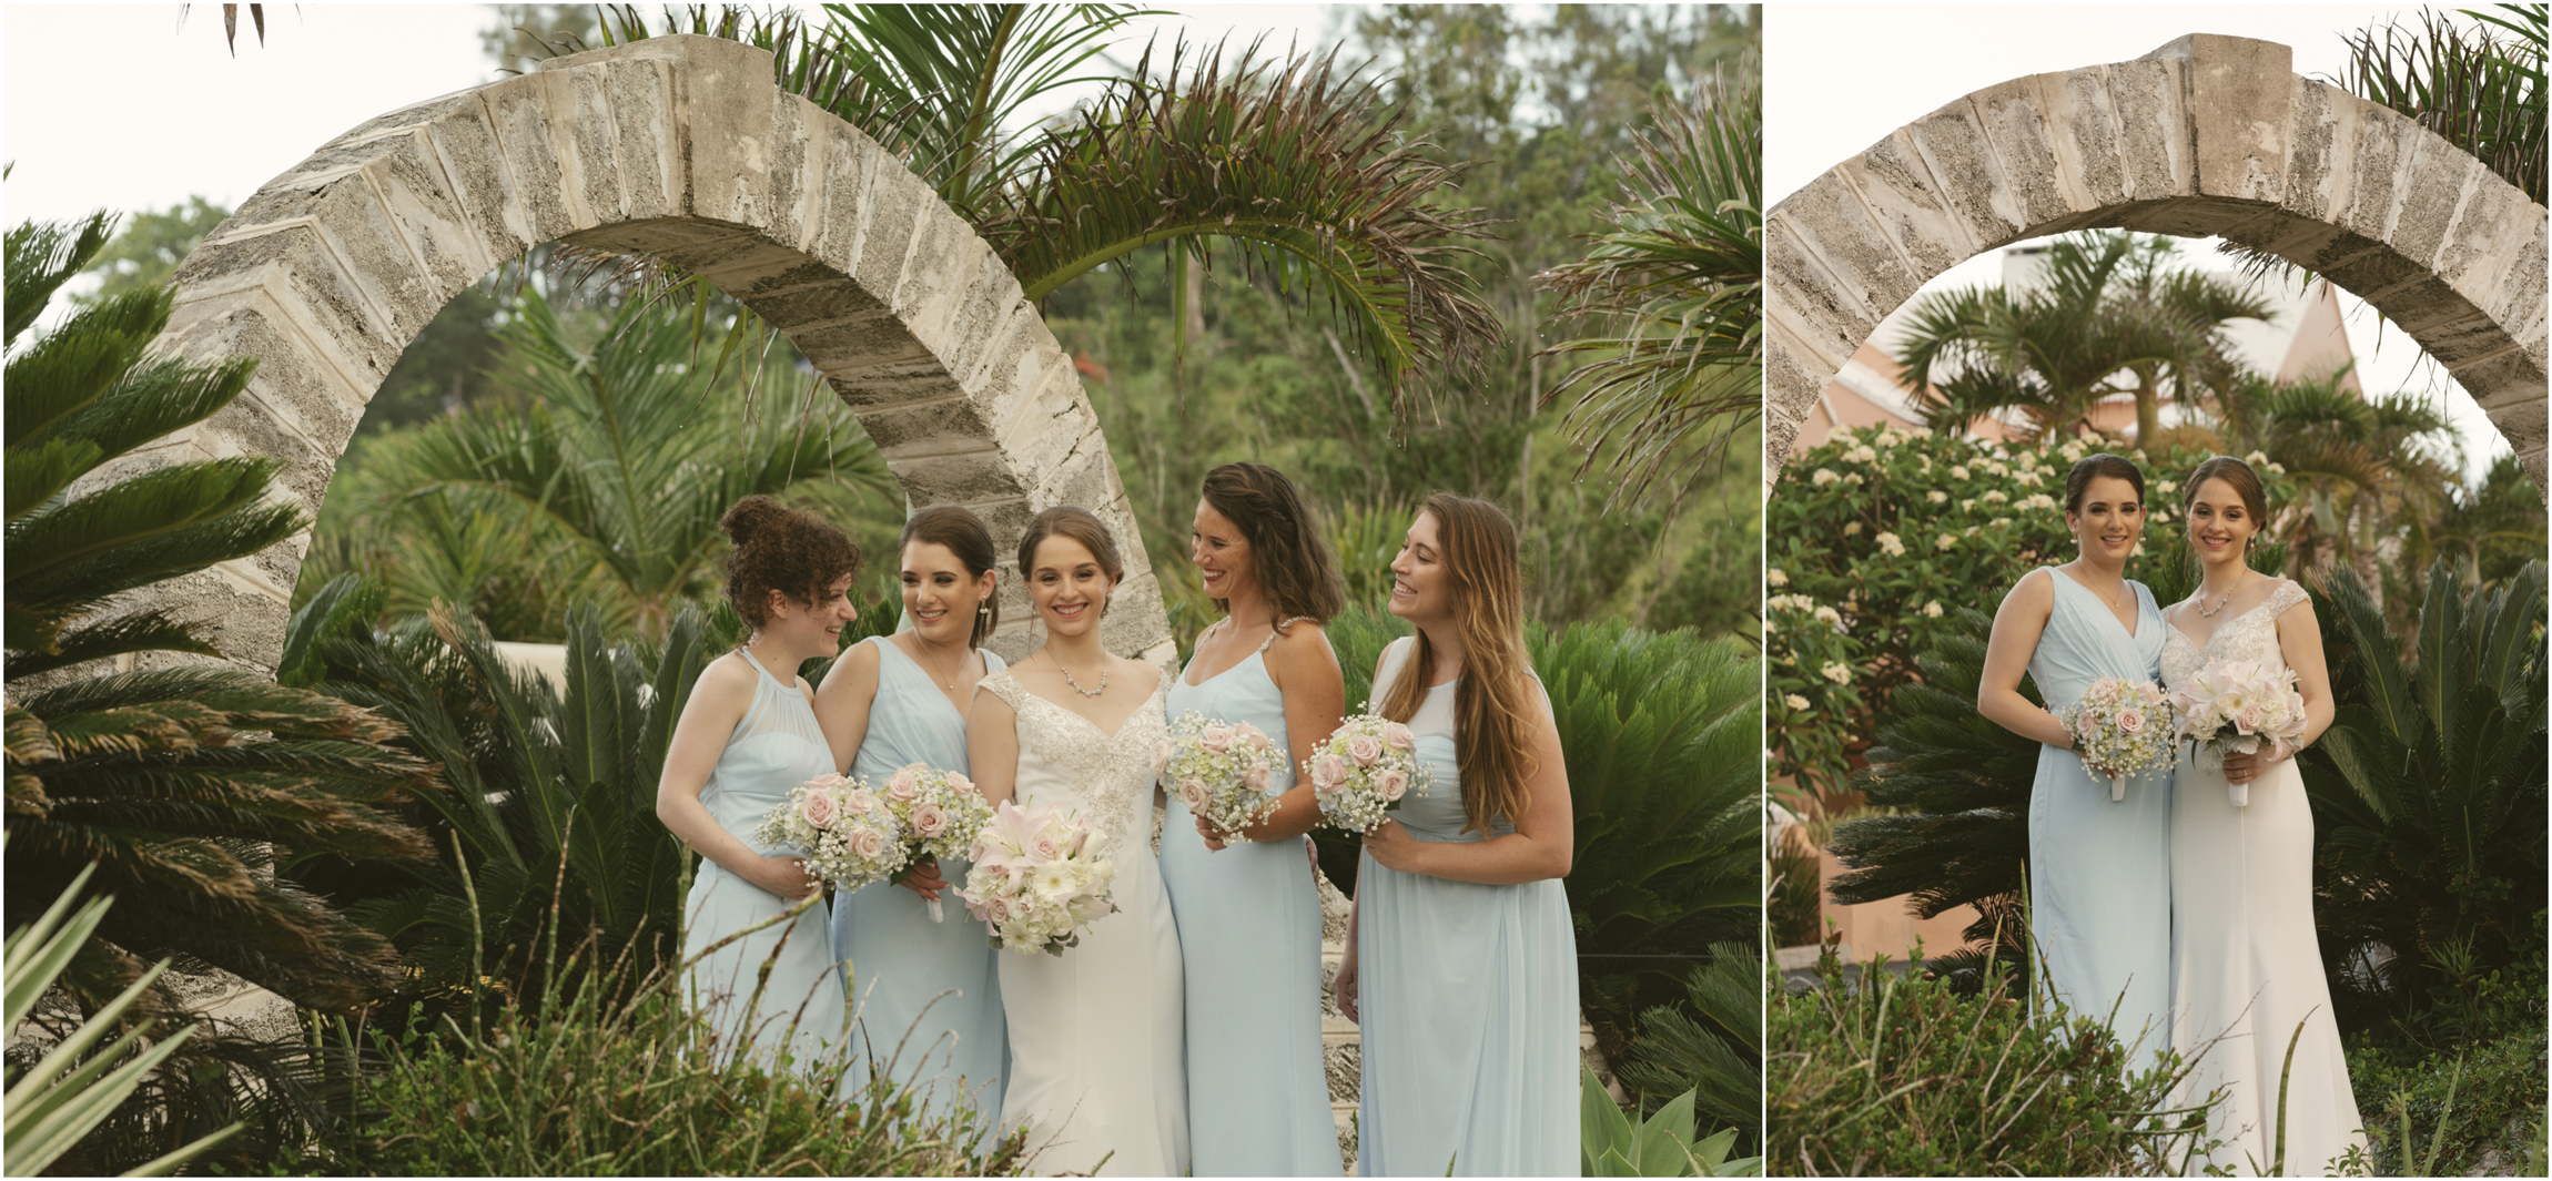
[[[265,454],[311,513],[365,403],[464,286],[538,242],[674,260],[740,298],[857,413],[906,497],[1003,554],[1051,505],[1125,551],[1108,645],[1166,663],[1169,620],[1079,375],[993,250],[875,140],[771,82],[771,54],[664,36],[388,112],[273,179],[179,268],[161,347],[258,357],[248,393],[130,459]],[[232,661],[283,650],[309,536],[163,584]],[[893,559],[888,559],[893,561]],[[993,648],[1034,643],[1003,564]]]

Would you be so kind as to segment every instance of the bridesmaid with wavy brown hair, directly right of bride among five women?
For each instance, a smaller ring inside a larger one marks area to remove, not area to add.
[[[1169,686],[1189,709],[1266,730],[1289,758],[1276,816],[1220,842],[1171,796],[1161,877],[1187,962],[1187,1135],[1197,1176],[1337,1176],[1319,1051],[1319,888],[1302,834],[1319,824],[1294,768],[1337,730],[1345,676],[1322,625],[1347,599],[1312,510],[1266,464],[1205,474],[1189,536],[1222,622]]]

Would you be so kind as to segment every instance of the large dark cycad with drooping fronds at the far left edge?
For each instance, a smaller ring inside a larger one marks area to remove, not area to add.
[[[8,235],[8,344],[105,245],[110,219]],[[168,321],[148,288],[71,314],[8,360],[8,903],[33,921],[94,865],[117,898],[64,982],[92,1000],[186,954],[288,1000],[350,1010],[396,979],[390,946],[296,883],[293,857],[413,860],[424,834],[393,806],[436,788],[385,742],[398,727],[347,701],[281,689],[161,610],[120,594],[255,554],[299,510],[268,502],[273,459],[102,472],[197,423],[250,362],[148,352]],[[128,668],[92,661],[122,658]],[[130,668],[130,658],[163,663]],[[87,676],[82,676],[87,673]]]

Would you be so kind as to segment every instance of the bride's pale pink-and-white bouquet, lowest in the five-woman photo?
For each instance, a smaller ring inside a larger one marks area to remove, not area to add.
[[[1003,803],[975,834],[965,875],[967,913],[993,928],[1003,951],[1064,954],[1079,928],[1115,911],[1108,883],[1115,862],[1090,847],[1090,821],[1054,803]]]

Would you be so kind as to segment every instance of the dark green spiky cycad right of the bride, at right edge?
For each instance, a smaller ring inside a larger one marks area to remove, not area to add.
[[[2440,962],[2486,972],[2539,946],[2544,908],[2544,564],[2498,589],[2427,574],[2399,635],[2350,569],[2333,571],[2322,633],[2338,719],[2302,755],[2315,811],[2315,921],[2333,990],[2361,995],[2368,944],[2391,949],[2394,1002]],[[2404,645],[2404,640],[2409,640]]]

